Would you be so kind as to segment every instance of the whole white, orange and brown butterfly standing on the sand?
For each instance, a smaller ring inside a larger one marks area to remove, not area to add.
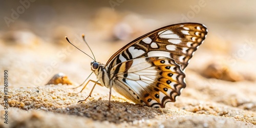
[[[167,102],[175,102],[186,87],[184,70],[206,35],[207,28],[202,24],[169,25],[133,40],[105,65],[91,57],[91,70],[98,80],[89,80],[83,89],[90,81],[95,83],[93,89],[96,84],[109,88],[109,106],[113,88],[136,104],[164,108]],[[84,35],[83,40],[86,42]]]

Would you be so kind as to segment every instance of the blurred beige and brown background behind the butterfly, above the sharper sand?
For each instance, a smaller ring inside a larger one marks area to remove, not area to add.
[[[143,34],[194,22],[207,26],[208,35],[188,71],[231,82],[255,81],[255,5],[240,0],[1,1],[0,69],[9,71],[11,87],[41,86],[59,72],[80,84],[91,72],[92,59],[65,36],[92,55],[82,42],[84,33],[96,60],[105,63]]]

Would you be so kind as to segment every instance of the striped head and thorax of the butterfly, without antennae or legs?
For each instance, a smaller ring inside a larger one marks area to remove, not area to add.
[[[105,65],[100,62],[92,61],[91,69],[95,73],[97,79],[101,83],[101,86],[105,86],[106,88],[110,88],[110,77],[105,69]]]

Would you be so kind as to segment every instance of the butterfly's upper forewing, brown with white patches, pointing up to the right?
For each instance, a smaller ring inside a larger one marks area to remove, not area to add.
[[[116,52],[106,63],[106,69],[135,58],[163,56],[174,59],[184,70],[206,34],[206,27],[198,23],[181,23],[157,29]]]

